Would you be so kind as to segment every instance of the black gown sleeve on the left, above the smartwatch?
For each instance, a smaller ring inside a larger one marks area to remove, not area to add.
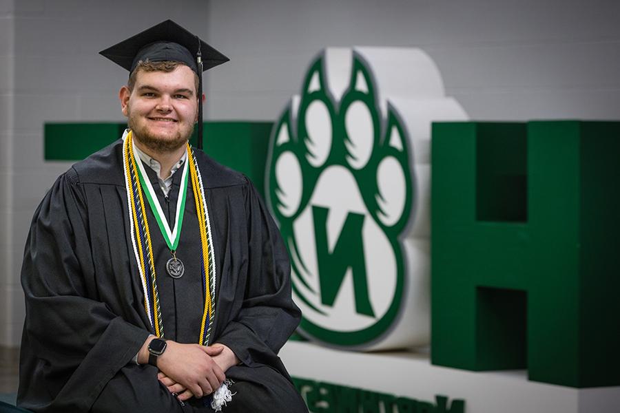
[[[70,169],[45,196],[30,226],[18,405],[34,412],[88,411],[148,331],[114,314],[96,282],[87,202]],[[114,307],[114,303],[111,305]]]

